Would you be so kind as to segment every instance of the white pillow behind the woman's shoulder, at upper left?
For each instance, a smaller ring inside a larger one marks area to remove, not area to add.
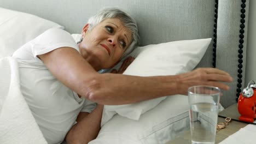
[[[54,27],[64,28],[38,16],[0,8],[0,58]]]

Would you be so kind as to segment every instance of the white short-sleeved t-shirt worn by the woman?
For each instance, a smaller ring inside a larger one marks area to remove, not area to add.
[[[21,92],[48,143],[61,143],[79,112],[91,112],[96,106],[63,85],[37,57],[60,47],[79,52],[71,34],[51,28],[13,53],[19,65]]]

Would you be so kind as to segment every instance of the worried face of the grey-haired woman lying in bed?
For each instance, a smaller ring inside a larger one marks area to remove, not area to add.
[[[113,67],[131,44],[131,32],[119,19],[106,19],[91,31],[88,28],[85,25],[82,31],[81,55],[96,70]]]

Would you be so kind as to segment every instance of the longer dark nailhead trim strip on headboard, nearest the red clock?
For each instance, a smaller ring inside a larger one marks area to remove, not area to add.
[[[245,28],[245,17],[246,17],[246,15],[245,15],[245,12],[246,12],[246,10],[245,10],[245,7],[246,7],[246,0],[242,0],[242,4],[241,4],[241,20],[240,20],[240,22],[241,22],[241,24],[240,24],[240,35],[239,35],[239,38],[240,38],[240,40],[239,40],[239,45],[238,45],[238,47],[239,47],[239,50],[238,50],[238,70],[237,70],[237,72],[238,72],[238,75],[237,75],[237,77],[238,77],[238,79],[237,79],[237,89],[236,89],[236,102],[237,102],[237,100],[238,100],[238,97],[239,97],[239,95],[240,95],[240,93],[241,93],[241,87],[242,87],[242,73],[243,73],[243,70],[242,70],[242,68],[243,68],[243,38],[245,37],[244,35],[243,35],[243,33],[245,33],[245,30],[244,30],[244,28]]]

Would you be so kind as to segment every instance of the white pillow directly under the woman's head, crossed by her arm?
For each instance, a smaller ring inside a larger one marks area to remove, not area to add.
[[[205,54],[211,38],[172,41],[158,45],[137,47],[130,55],[136,57],[125,70],[125,75],[155,76],[176,75],[193,70]],[[125,57],[125,58],[126,58]],[[119,69],[124,59],[113,69]],[[105,71],[109,72],[112,69]],[[121,95],[120,95],[121,97]],[[150,109],[153,109],[166,97],[142,101],[127,105],[105,105],[101,125],[109,121],[116,113],[133,120]]]

